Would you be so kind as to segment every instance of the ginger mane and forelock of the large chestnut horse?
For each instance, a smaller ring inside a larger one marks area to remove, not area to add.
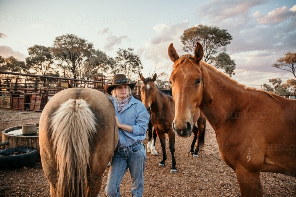
[[[175,61],[175,64],[173,65],[173,70],[176,69],[181,64],[185,64],[186,66],[188,66],[189,68],[191,68],[192,66],[194,66],[194,64],[197,64],[193,60],[193,58],[194,58],[194,56],[191,55],[191,54],[182,55],[180,58],[178,58]],[[247,91],[264,92],[264,93],[268,94],[269,96],[271,96],[273,99],[277,100],[276,96],[278,96],[278,95],[276,95],[274,92],[267,92],[267,91],[264,91],[264,90],[261,90],[261,89],[257,89],[255,87],[247,87],[247,86],[245,86],[243,84],[240,84],[239,82],[235,81],[234,79],[231,79],[230,76],[228,76],[225,73],[219,71],[217,68],[215,68],[215,66],[212,66],[212,65],[210,65],[210,64],[208,64],[208,63],[206,63],[204,61],[200,61],[200,64],[202,64],[207,69],[209,69],[210,71],[212,71],[215,74],[217,74],[224,81],[229,82],[229,83],[233,84],[234,86],[239,87],[240,89],[247,90]]]

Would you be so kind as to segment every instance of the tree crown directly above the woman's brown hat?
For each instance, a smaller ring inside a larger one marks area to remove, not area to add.
[[[119,48],[115,57],[115,64],[112,64],[110,69],[113,75],[125,74],[129,82],[130,79],[139,75],[143,66],[139,56],[133,54],[133,48],[127,50]]]

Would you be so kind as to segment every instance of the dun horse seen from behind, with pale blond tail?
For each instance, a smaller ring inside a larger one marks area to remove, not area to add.
[[[39,123],[40,156],[52,197],[97,197],[118,143],[115,108],[104,93],[69,88],[45,105]]]

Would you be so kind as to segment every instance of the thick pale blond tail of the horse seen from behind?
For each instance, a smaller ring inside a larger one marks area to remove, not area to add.
[[[61,196],[86,196],[90,166],[89,140],[96,132],[96,118],[83,99],[69,99],[51,119],[57,165],[55,192]]]

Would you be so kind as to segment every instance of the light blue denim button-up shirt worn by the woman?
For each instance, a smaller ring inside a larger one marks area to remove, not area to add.
[[[138,141],[143,141],[146,138],[146,130],[149,123],[149,113],[139,100],[131,97],[131,100],[118,113],[117,103],[113,97],[109,97],[115,106],[115,114],[122,124],[133,126],[133,133],[118,128],[120,147],[130,146]]]

